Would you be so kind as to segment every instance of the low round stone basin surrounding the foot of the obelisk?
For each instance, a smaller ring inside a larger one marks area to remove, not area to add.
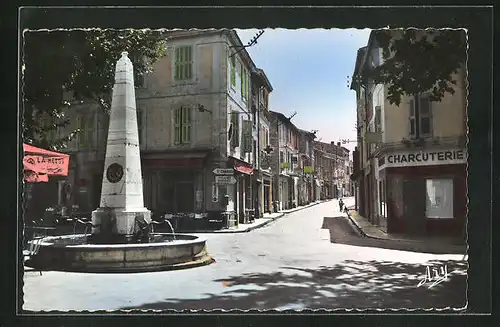
[[[213,259],[206,239],[155,233],[150,243],[88,244],[88,235],[46,237],[26,266],[40,270],[117,273],[148,272],[207,265]]]

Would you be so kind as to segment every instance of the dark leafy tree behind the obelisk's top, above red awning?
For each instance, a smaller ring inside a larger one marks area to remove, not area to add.
[[[25,142],[64,148],[79,130],[57,140],[50,134],[67,126],[71,103],[96,102],[109,112],[116,61],[128,51],[136,85],[166,53],[165,32],[151,30],[26,31],[23,33],[23,136]],[[145,59],[147,58],[147,59]]]

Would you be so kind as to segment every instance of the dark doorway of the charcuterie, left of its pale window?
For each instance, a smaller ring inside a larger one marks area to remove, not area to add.
[[[425,182],[423,179],[403,181],[403,221],[407,234],[425,232]]]

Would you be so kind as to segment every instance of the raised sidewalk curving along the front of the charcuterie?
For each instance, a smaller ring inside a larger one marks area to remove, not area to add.
[[[465,254],[467,250],[467,245],[463,244],[456,237],[442,237],[442,236],[408,236],[401,234],[388,234],[382,230],[379,226],[373,225],[368,221],[368,219],[359,215],[359,213],[354,210],[354,206],[348,207],[349,218],[358,228],[358,230],[365,237],[378,240],[387,240],[394,242],[401,242],[405,244],[414,244],[418,247],[429,248],[430,251],[435,252],[436,249],[440,249],[441,253],[460,253]]]

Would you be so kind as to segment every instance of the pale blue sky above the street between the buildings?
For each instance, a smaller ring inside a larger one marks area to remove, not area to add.
[[[236,30],[247,44],[257,29]],[[356,93],[349,89],[359,48],[370,30],[265,29],[247,48],[273,92],[269,109],[290,116],[300,129],[318,130],[321,142],[356,140]],[[354,150],[355,142],[343,145]]]

